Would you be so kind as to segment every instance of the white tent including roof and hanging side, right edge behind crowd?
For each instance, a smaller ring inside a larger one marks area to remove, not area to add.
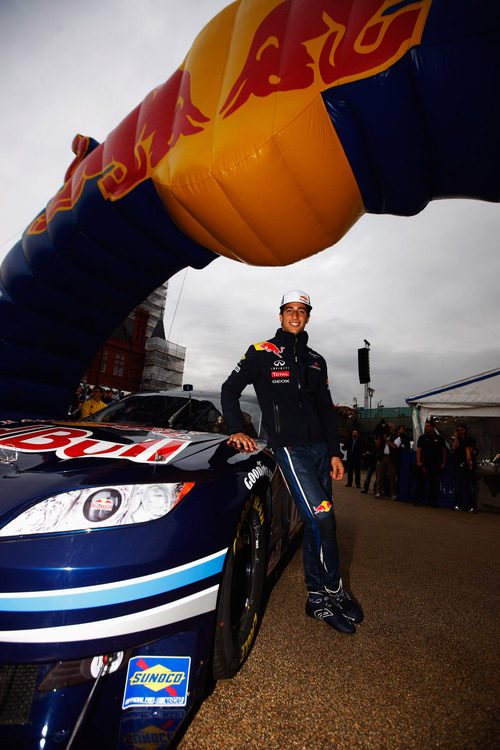
[[[500,369],[410,396],[406,403],[412,409],[415,441],[430,417],[500,417]]]

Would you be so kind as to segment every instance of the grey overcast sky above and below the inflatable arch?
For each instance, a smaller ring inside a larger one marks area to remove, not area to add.
[[[99,141],[182,62],[225,0],[0,0],[0,260],[59,189],[76,133]],[[500,366],[500,208],[435,201],[413,218],[365,216],[334,247],[285,268],[219,258],[173,278],[165,316],[185,382],[219,387],[274,334],[282,293],[305,289],[311,345],[334,401],[373,406]],[[0,332],[1,335],[1,332]]]

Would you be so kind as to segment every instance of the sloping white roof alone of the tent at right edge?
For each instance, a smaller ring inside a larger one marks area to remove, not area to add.
[[[410,396],[406,403],[432,408],[434,413],[438,413],[440,408],[448,413],[452,409],[455,413],[464,413],[465,410],[492,407],[497,407],[500,412],[500,368],[433,388],[418,396]]]

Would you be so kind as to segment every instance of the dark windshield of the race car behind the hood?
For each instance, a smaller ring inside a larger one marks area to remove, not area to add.
[[[222,415],[211,401],[188,396],[128,396],[85,421],[225,432]]]

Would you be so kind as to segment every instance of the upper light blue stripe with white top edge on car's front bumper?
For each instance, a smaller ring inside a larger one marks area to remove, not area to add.
[[[218,575],[224,565],[225,555],[224,549],[178,568],[98,586],[0,593],[0,611],[61,612],[145,599]]]

